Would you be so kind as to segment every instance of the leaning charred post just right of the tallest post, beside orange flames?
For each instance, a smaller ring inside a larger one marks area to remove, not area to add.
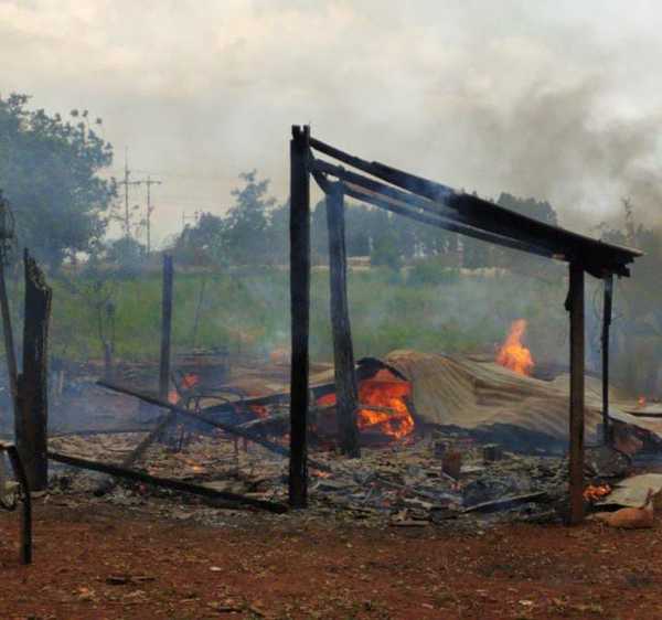
[[[359,388],[354,372],[354,349],[348,303],[344,194],[340,183],[333,183],[327,194],[327,226],[329,228],[331,329],[333,332],[340,447],[348,457],[357,458],[361,456],[359,429],[356,428]]]

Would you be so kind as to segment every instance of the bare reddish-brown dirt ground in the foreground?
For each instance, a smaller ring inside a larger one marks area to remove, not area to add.
[[[207,527],[35,506],[34,564],[0,514],[4,619],[662,618],[662,530],[369,528],[247,513]]]

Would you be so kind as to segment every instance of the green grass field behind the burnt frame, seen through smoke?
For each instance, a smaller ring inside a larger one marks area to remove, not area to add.
[[[356,357],[393,349],[431,352],[485,350],[502,340],[510,323],[528,319],[528,341],[538,356],[560,351],[567,334],[564,286],[535,277],[463,275],[440,271],[435,281],[417,284],[412,274],[372,269],[349,275],[352,331]],[[79,287],[81,281],[74,280]],[[102,357],[94,296],[76,293],[64,280],[51,279],[53,318],[51,352],[84,361]],[[201,289],[204,289],[201,293]],[[161,277],[115,279],[115,355],[157,360]],[[20,290],[10,287],[15,324]],[[328,271],[316,269],[311,291],[311,355],[332,359]],[[194,333],[195,317],[197,330]],[[278,269],[220,272],[175,271],[174,351],[226,345],[231,353],[268,354],[289,345],[288,274]]]

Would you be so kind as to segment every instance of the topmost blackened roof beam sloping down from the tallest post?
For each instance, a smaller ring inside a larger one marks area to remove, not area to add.
[[[311,148],[342,161],[353,168],[367,172],[387,183],[392,183],[408,192],[462,212],[474,222],[474,226],[504,236],[516,238],[532,245],[544,246],[555,255],[565,256],[566,260],[583,260],[585,270],[601,278],[605,271],[629,276],[627,265],[634,257],[641,256],[636,249],[606,244],[579,235],[572,231],[540,222],[526,215],[490,203],[478,196],[455,192],[451,188],[436,183],[423,177],[396,170],[376,161],[366,161],[351,156],[314,138],[310,139]]]

